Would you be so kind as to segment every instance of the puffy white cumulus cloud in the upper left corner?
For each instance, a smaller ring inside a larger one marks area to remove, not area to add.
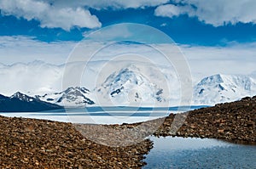
[[[55,7],[49,3],[36,0],[2,0],[0,1],[1,14],[15,15],[26,20],[38,20],[41,27],[60,27],[69,31],[73,26],[97,28],[101,22],[89,10],[84,8]]]

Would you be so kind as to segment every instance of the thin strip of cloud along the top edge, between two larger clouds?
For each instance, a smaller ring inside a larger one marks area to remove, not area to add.
[[[169,2],[169,0],[73,0],[73,1],[63,1],[63,0],[48,0],[49,3],[54,3],[55,6],[60,7],[81,7],[86,6],[90,8],[144,8],[144,7],[154,7],[163,3]]]

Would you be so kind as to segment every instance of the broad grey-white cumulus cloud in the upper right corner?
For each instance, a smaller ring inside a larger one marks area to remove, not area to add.
[[[175,0],[178,5],[160,5],[155,15],[170,17],[188,14],[214,26],[241,23],[256,24],[254,0]]]

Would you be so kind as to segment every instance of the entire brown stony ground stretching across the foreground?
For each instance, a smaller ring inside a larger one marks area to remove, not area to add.
[[[256,97],[123,125],[0,116],[2,168],[141,168],[154,135],[256,144]],[[85,136],[85,137],[84,137]]]

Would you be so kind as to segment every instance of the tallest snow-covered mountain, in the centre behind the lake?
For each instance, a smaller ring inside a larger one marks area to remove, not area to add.
[[[96,87],[97,104],[154,105],[166,103],[165,91],[151,82],[135,65],[113,72],[100,87]]]

